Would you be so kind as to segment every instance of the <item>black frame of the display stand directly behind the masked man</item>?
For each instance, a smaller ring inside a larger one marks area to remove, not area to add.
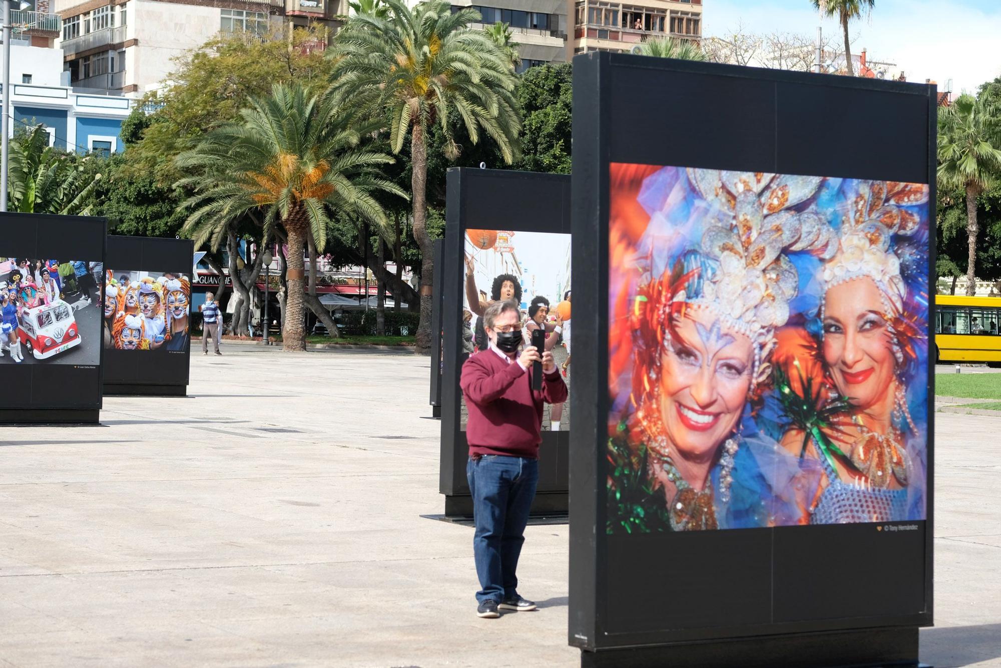
[[[458,389],[464,358],[447,354],[462,350],[462,239],[467,226],[469,229],[569,234],[570,176],[452,167],[446,178],[444,251],[441,264],[435,265],[435,275],[439,272],[441,275],[442,345],[446,353],[441,375],[438,490],[445,495],[446,516],[471,517],[472,499],[465,480],[468,444],[461,430],[461,392]],[[566,514],[570,432],[543,432],[539,462],[539,488],[533,515]]]

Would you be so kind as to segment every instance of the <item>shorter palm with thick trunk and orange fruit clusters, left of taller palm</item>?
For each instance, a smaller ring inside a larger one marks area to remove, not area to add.
[[[311,241],[322,250],[329,223],[327,208],[345,210],[380,227],[385,213],[374,190],[405,194],[381,178],[385,153],[360,146],[372,128],[359,124],[331,101],[310,97],[299,85],[275,84],[271,95],[253,99],[242,122],[209,132],[194,149],[177,157],[179,169],[193,172],[178,181],[194,195],[194,211],[184,225],[196,246],[213,248],[230,225],[262,216],[264,237],[283,229],[288,241],[287,301],[282,326],[285,351],[301,351],[303,340],[303,253]]]

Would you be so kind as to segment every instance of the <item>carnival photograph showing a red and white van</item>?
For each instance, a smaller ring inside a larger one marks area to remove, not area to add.
[[[102,265],[0,257],[0,364],[96,366]]]

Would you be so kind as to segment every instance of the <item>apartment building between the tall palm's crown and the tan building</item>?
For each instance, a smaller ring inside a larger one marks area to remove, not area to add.
[[[479,12],[482,23],[473,27],[485,28],[497,21],[507,23],[522,57],[520,72],[568,59],[570,25],[566,0],[452,0],[451,6],[472,7]]]

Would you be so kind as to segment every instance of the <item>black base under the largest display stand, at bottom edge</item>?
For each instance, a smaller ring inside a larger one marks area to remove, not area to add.
[[[931,668],[918,628],[882,628],[581,652],[581,668]]]

